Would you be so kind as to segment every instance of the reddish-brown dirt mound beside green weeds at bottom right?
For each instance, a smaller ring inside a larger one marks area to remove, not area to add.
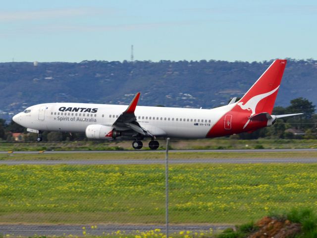
[[[259,230],[248,238],[289,238],[301,233],[302,226],[299,223],[291,223],[289,220],[278,220],[264,217],[257,224]]]

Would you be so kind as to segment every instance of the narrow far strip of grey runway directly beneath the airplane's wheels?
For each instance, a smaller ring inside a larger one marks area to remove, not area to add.
[[[317,149],[240,149],[240,150],[170,150],[169,152],[241,152],[241,153],[254,153],[254,152],[291,152],[291,151],[317,151]],[[72,153],[165,153],[164,150],[72,150],[72,151],[45,151],[45,154],[72,154]],[[0,151],[0,154],[7,154],[8,151]],[[38,154],[39,151],[13,151],[14,154]]]

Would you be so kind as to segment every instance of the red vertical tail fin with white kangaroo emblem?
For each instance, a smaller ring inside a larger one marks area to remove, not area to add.
[[[287,60],[274,60],[237,105],[243,110],[257,113],[272,113]]]

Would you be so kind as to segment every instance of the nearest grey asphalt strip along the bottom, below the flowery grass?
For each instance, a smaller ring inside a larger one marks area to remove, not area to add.
[[[160,229],[162,233],[165,232],[165,227],[162,225],[97,225],[97,229],[91,229],[87,225],[0,225],[0,233],[3,236],[83,236],[83,227],[86,227],[86,235],[102,236],[111,234],[112,232],[121,231],[126,234],[133,234],[136,231],[145,232],[155,229]],[[214,231],[224,230],[229,225],[171,225],[169,228],[170,233],[180,231],[209,231],[211,228]]]

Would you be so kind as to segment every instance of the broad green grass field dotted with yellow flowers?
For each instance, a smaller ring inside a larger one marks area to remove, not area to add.
[[[170,165],[171,223],[317,208],[317,164]],[[0,166],[1,223],[164,223],[163,165]]]

